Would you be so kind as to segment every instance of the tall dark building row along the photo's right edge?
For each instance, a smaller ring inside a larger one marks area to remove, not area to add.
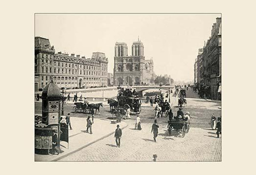
[[[211,36],[199,50],[195,64],[196,83],[206,89],[206,98],[221,99],[221,17],[212,25]]]

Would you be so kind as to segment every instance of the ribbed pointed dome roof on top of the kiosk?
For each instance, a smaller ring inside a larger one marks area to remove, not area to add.
[[[51,82],[46,85],[42,92],[42,99],[52,99],[60,98],[61,93],[58,86],[51,80]]]

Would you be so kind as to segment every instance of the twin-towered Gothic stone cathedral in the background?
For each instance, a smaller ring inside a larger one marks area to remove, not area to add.
[[[153,76],[153,60],[145,59],[144,46],[139,40],[131,46],[131,56],[125,42],[116,42],[114,56],[114,85],[149,84]]]

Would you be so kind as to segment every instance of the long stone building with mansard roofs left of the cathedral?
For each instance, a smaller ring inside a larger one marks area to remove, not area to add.
[[[55,53],[49,39],[35,37],[35,91],[50,81],[59,88],[90,88],[107,86],[108,58],[95,52],[92,57]]]

